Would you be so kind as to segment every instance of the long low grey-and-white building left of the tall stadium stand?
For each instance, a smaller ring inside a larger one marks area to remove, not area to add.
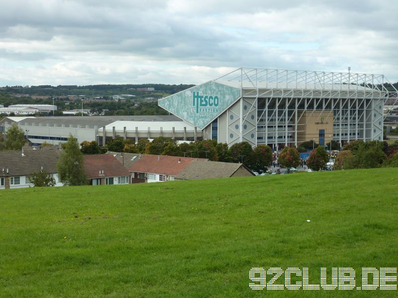
[[[33,145],[46,142],[53,145],[66,142],[69,134],[77,141],[96,141],[105,145],[113,138],[153,139],[174,138],[194,141],[202,138],[201,131],[173,115],[162,116],[84,116],[84,117],[6,117],[0,121],[0,132],[16,123]]]

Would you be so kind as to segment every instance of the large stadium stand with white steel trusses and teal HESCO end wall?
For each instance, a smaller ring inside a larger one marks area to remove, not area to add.
[[[240,68],[158,104],[229,146],[344,145],[383,140],[383,106],[392,96],[386,82],[381,74]]]

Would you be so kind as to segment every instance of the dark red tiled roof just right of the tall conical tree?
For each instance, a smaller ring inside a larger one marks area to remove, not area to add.
[[[84,155],[84,167],[89,179],[130,175],[130,172],[111,154]]]

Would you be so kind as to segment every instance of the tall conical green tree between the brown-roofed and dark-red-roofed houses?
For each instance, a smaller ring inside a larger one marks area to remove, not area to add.
[[[57,162],[59,181],[64,183],[64,185],[87,184],[84,155],[72,134],[69,134],[68,141],[62,144],[62,149]]]

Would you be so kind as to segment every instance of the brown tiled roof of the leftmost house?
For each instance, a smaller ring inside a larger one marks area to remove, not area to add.
[[[57,173],[60,151],[55,148],[40,150],[0,151],[0,176],[30,175],[43,169],[49,174]],[[8,174],[6,173],[8,169]]]

